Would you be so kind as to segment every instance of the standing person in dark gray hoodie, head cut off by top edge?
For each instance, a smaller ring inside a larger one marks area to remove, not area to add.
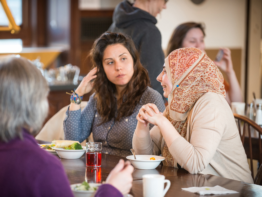
[[[113,23],[107,31],[129,35],[140,53],[140,61],[148,70],[151,86],[163,95],[156,77],[163,69],[165,56],[161,47],[161,34],[156,27],[156,16],[166,8],[167,0],[125,0],[114,9]],[[166,101],[166,98],[165,98]]]

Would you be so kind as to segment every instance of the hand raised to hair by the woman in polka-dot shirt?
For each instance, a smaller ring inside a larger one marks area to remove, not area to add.
[[[77,93],[79,96],[83,96],[84,94],[89,93],[93,89],[94,82],[91,82],[91,80],[96,78],[96,72],[97,67],[90,70],[90,72],[83,78],[83,80],[75,90],[75,93]]]

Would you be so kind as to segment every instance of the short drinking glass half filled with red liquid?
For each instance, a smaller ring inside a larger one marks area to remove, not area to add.
[[[86,143],[86,167],[101,167],[101,142],[87,142]]]

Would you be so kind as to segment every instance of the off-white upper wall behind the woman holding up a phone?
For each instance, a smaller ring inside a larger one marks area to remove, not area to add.
[[[206,48],[245,47],[245,0],[205,0],[196,5],[190,0],[169,0],[167,9],[157,16],[166,49],[173,30],[181,23],[205,23]]]

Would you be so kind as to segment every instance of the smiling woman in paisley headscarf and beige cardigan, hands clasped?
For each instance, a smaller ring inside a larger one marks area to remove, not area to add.
[[[168,98],[159,112],[139,110],[133,136],[136,154],[162,154],[164,165],[253,183],[223,76],[201,50],[181,48],[165,59],[157,77]],[[155,126],[149,131],[148,123]]]

